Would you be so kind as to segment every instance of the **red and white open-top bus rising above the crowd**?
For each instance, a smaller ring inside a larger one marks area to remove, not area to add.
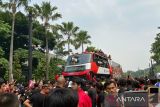
[[[91,80],[95,76],[111,76],[110,59],[103,52],[84,52],[70,55],[62,75],[79,76]]]

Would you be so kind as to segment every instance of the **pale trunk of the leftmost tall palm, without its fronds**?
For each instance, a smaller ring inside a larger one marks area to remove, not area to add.
[[[9,53],[9,82],[13,81],[13,41],[14,41],[14,24],[15,24],[15,13],[13,13],[12,19],[12,34],[11,34],[11,44]]]

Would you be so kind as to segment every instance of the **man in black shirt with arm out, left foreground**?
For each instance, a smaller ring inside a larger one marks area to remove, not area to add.
[[[47,84],[42,86],[42,89],[39,93],[32,95],[29,99],[24,102],[26,107],[45,107],[45,97],[49,93],[49,87]],[[33,106],[31,106],[31,104]]]

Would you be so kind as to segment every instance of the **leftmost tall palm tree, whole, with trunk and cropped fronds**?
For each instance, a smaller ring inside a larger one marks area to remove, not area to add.
[[[9,2],[2,3],[2,7],[9,9],[12,12],[12,33],[9,53],[9,82],[13,81],[13,41],[14,41],[14,25],[17,8],[20,6],[27,6],[29,0],[9,0]]]

